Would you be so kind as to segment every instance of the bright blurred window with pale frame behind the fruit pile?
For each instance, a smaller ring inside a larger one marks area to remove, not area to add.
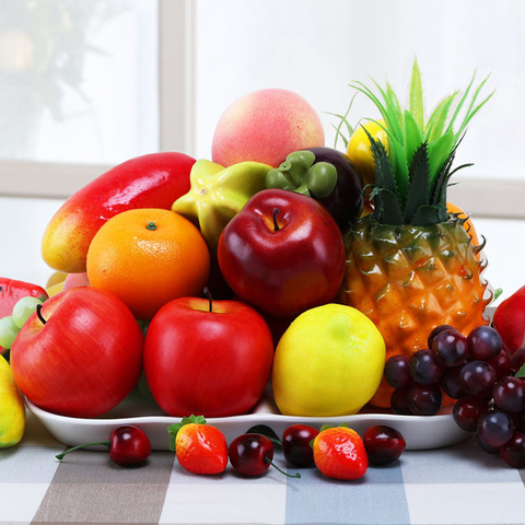
[[[525,235],[522,0],[0,0],[0,13],[4,214],[39,207],[44,228],[43,210],[119,162],[161,150],[209,159],[221,113],[257,89],[303,95],[334,145],[348,84],[388,81],[408,102],[417,57],[428,112],[490,74],[494,95],[457,158],[475,165],[451,199],[487,232],[499,275],[513,272],[520,254],[504,243]],[[350,124],[362,117],[377,115],[357,96]]]

